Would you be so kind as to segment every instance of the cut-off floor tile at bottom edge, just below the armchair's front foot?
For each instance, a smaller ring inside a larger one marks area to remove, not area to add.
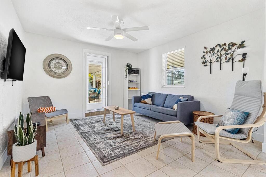
[[[228,171],[225,171],[217,166],[214,166],[212,164],[208,165],[205,169],[203,169],[201,172],[199,172],[202,176],[236,176]]]

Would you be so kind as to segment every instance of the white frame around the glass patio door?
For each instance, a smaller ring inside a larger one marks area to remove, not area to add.
[[[83,54],[82,54],[82,116],[84,117],[85,116],[85,113],[88,113],[90,111],[87,111],[86,110],[86,105],[87,105],[87,102],[86,102],[86,93],[87,93],[87,90],[85,89],[86,87],[86,77],[85,77],[85,74],[86,74],[86,57],[87,55],[92,55],[92,56],[96,56],[96,57],[106,57],[106,89],[107,89],[107,92],[106,92],[106,98],[107,98],[107,106],[109,106],[111,104],[111,70],[110,70],[110,63],[111,63],[111,53],[108,53],[108,52],[103,52],[103,51],[97,51],[97,50],[90,50],[90,49],[83,49]]]

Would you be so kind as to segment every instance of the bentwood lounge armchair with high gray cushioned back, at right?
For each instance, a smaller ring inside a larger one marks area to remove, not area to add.
[[[263,99],[263,110],[262,113],[259,115]],[[195,124],[197,125],[198,140],[201,143],[214,143],[216,157],[219,162],[266,165],[265,159],[259,160],[258,158],[253,156],[250,151],[245,150],[238,145],[239,143],[249,143],[251,141],[253,129],[255,127],[260,127],[264,125],[266,122],[266,93],[263,93],[261,81],[237,81],[234,99],[230,108],[249,112],[244,123],[242,125],[216,127],[216,125],[214,124],[203,123],[200,122],[200,120],[207,117],[221,117],[222,115],[200,116],[198,118],[198,121],[195,122]],[[233,135],[224,130],[227,128],[240,129],[235,135]],[[209,139],[209,141],[201,140],[200,132],[203,133],[203,135],[205,135]],[[219,142],[220,139],[222,139],[223,141]],[[238,144],[232,142],[236,142]],[[247,154],[253,160],[223,158],[220,156],[219,144],[231,144],[238,150]]]

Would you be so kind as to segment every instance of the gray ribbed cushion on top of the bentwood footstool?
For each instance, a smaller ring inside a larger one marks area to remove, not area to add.
[[[157,123],[155,124],[156,136],[159,137],[164,134],[169,133],[186,133],[189,132],[189,129],[182,123]],[[188,137],[188,136],[180,136],[180,137]]]

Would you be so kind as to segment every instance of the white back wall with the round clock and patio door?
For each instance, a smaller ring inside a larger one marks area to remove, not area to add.
[[[119,42],[119,41],[117,41]],[[123,106],[123,67],[127,62],[137,67],[136,53],[103,48],[57,38],[26,33],[27,55],[24,69],[24,112],[29,110],[28,97],[49,96],[58,109],[67,109],[69,118],[82,116],[82,50],[90,49],[111,53],[111,103]],[[43,60],[50,54],[68,57],[72,72],[63,79],[48,76],[43,70]]]

